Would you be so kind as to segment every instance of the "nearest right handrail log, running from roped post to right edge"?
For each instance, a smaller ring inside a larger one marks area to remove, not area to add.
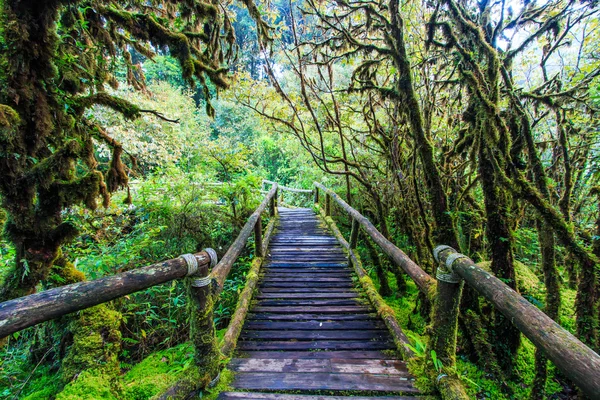
[[[440,251],[440,263],[445,264],[451,254],[457,254],[456,250]],[[589,398],[600,398],[600,356],[596,352],[470,258],[456,259],[451,271],[512,321]]]

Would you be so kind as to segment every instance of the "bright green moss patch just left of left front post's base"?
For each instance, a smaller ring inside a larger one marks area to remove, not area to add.
[[[163,393],[182,377],[192,364],[193,357],[194,348],[191,343],[151,354],[123,375],[122,397],[146,400]]]

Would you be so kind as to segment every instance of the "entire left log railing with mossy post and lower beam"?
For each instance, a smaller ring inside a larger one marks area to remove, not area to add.
[[[83,310],[175,279],[187,278],[190,310],[190,338],[195,347],[194,368],[160,398],[186,398],[191,392],[216,383],[223,355],[230,355],[248,311],[252,292],[258,281],[269,238],[275,226],[271,218],[263,236],[262,214],[269,207],[272,217],[277,210],[277,184],[274,183],[261,204],[248,218],[238,237],[217,262],[214,250],[138,268],[121,274],[75,283],[0,303],[0,338],[14,332]],[[255,259],[247,275],[246,286],[228,330],[219,344],[215,335],[214,305],[223,284],[254,233]],[[212,268],[212,270],[211,270]]]

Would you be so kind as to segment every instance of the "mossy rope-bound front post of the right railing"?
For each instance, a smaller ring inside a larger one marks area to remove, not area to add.
[[[440,262],[439,258],[439,254],[449,248],[449,246],[438,246],[433,251],[439,263],[436,272],[437,288],[432,324],[432,348],[439,361],[437,365],[434,363],[438,374],[435,381],[442,398],[449,398],[445,394],[453,393],[454,397],[451,397],[453,399],[468,399],[460,379],[456,376],[456,337],[463,280],[452,271],[452,263],[456,258],[448,258],[446,263]],[[458,254],[458,256],[462,255]],[[430,356],[433,359],[433,355]]]

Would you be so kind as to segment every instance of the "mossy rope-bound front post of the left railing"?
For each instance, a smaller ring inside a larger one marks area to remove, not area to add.
[[[210,268],[217,265],[217,253],[205,249],[210,255]],[[199,386],[205,388],[218,381],[221,353],[217,345],[214,324],[214,296],[209,266],[198,267],[196,274],[187,279],[188,309],[190,314],[190,339],[194,344],[194,361],[199,372]]]

